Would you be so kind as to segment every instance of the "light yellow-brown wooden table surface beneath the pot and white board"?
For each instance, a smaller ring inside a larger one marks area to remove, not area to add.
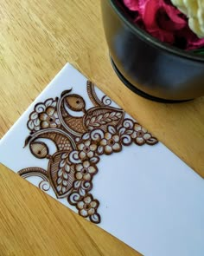
[[[71,62],[204,177],[204,97],[168,105],[126,89],[109,61],[99,1],[1,0],[0,29],[1,136]],[[3,166],[0,181],[1,255],[138,255]]]

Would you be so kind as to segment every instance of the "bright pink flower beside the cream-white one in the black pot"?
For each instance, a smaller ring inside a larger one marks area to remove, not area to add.
[[[123,3],[131,13],[136,13],[132,21],[163,43],[182,49],[204,46],[204,39],[189,29],[187,16],[170,0],[123,0]]]

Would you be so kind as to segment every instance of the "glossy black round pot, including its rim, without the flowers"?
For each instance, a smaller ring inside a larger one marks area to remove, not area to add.
[[[131,23],[115,0],[101,0],[113,68],[126,86],[157,102],[204,95],[204,57],[176,49]]]

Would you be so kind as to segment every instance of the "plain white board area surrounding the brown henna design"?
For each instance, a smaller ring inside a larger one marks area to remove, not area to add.
[[[37,160],[29,147],[23,148],[29,113],[36,102],[70,88],[84,97],[86,108],[92,107],[86,77],[67,64],[0,141],[0,161],[5,166],[14,172],[47,168],[47,160]],[[145,256],[204,255],[204,183],[198,174],[162,143],[131,145],[100,158],[91,191],[100,202],[100,227]],[[36,178],[29,181],[38,185]],[[49,194],[55,198],[53,191]],[[60,201],[70,207],[67,200]]]

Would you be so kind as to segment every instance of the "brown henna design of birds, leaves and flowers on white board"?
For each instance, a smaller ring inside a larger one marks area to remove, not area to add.
[[[158,141],[137,121],[124,118],[124,111],[113,108],[109,98],[104,96],[99,100],[92,82],[87,82],[87,93],[93,108],[86,109],[84,99],[70,93],[67,90],[60,99],[36,104],[29,115],[30,135],[25,147],[29,145],[36,158],[48,159],[48,170],[27,167],[18,174],[24,178],[41,177],[42,190],[52,187],[56,197],[67,198],[80,216],[99,223],[99,200],[90,194],[93,177],[98,173],[99,156],[118,153],[132,143],[142,146]],[[71,115],[69,109],[81,112],[81,116]],[[54,154],[50,154],[49,142],[54,143]]]

